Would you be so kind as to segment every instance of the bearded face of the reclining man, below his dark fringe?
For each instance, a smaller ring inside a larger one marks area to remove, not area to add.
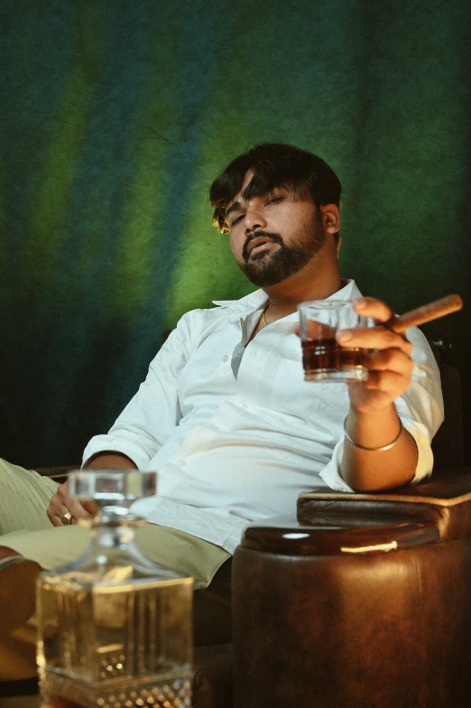
[[[229,243],[248,279],[267,287],[298,273],[327,237],[307,188],[295,195],[290,187],[277,187],[245,200],[252,177],[247,172],[242,190],[227,205]]]

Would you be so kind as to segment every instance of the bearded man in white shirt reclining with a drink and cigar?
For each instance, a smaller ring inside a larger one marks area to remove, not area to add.
[[[373,350],[367,381],[303,380],[299,303],[355,300],[357,312],[378,323],[392,316],[340,278],[340,193],[327,163],[289,145],[259,145],[228,165],[211,187],[215,223],[262,289],[184,315],[110,432],[84,453],[88,468],[159,471],[157,497],[134,504],[151,522],[141,543],[155,560],[195,576],[199,643],[230,634],[226,561],[247,523],[292,511],[300,491],[315,484],[389,489],[432,468],[442,399],[420,331],[407,340],[381,326],[339,331],[341,345]],[[75,523],[91,507],[69,498],[67,484],[56,489],[6,464],[0,480],[14,516],[10,525],[7,512],[0,517],[3,533],[38,528],[0,536],[1,545],[42,567],[78,555],[81,529],[64,520]],[[26,522],[15,503],[21,497],[24,505],[32,487],[29,504],[41,526]],[[46,507],[58,528],[43,528]]]

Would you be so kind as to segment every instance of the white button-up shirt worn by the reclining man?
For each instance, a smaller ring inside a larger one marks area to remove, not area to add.
[[[360,296],[349,281],[329,299]],[[141,470],[157,470],[157,496],[134,510],[229,553],[247,523],[293,512],[301,491],[319,484],[350,490],[339,474],[346,384],[304,381],[296,312],[249,341],[266,303],[259,290],[185,314],[109,433],[84,452],[84,463],[115,451]],[[414,374],[395,405],[417,442],[419,481],[432,468],[429,442],[443,400],[427,341],[415,328],[407,337]]]

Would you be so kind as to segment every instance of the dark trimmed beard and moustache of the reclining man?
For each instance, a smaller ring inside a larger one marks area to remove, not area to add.
[[[250,257],[247,253],[248,244],[258,236],[266,236],[273,243],[277,243],[279,248],[274,251],[263,251]],[[258,287],[269,287],[277,283],[282,283],[291,275],[299,271],[309,263],[321,247],[324,246],[327,234],[322,226],[320,215],[316,215],[314,228],[306,228],[300,239],[293,246],[286,246],[281,234],[270,231],[257,230],[250,234],[245,241],[242,251],[243,263],[239,264],[247,278]],[[304,241],[304,243],[302,243]]]

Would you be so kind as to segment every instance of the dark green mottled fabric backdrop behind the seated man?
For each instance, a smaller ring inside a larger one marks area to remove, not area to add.
[[[471,302],[470,24],[466,0],[3,0],[0,455],[78,461],[163,329],[251,289],[207,193],[259,142],[337,170],[366,294]],[[467,320],[429,333],[469,415]]]

